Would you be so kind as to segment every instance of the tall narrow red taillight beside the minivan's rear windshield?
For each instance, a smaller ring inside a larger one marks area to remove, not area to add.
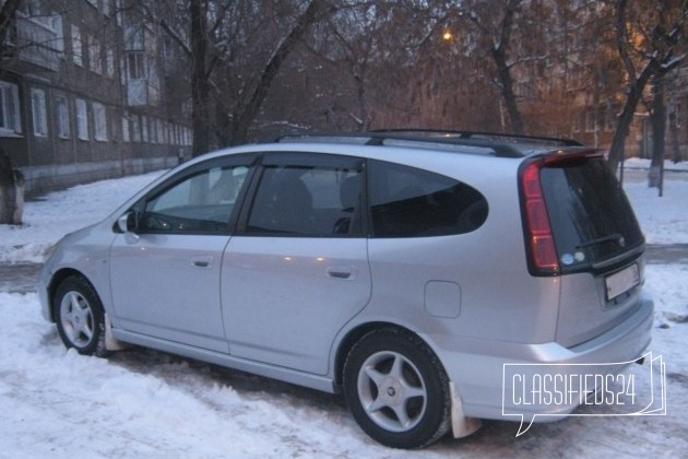
[[[534,161],[521,172],[523,231],[531,274],[556,275],[559,272],[559,259],[539,181],[539,170],[544,164],[542,160]]]

